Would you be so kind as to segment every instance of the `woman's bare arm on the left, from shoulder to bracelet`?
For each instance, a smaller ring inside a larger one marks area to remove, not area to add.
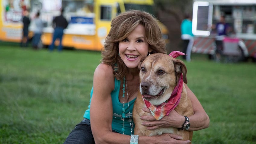
[[[93,95],[91,98],[91,130],[96,143],[121,143],[118,133],[112,132],[113,107],[111,91],[114,90],[114,75],[111,66],[100,64],[93,76]],[[121,136],[122,137],[122,136]],[[123,141],[129,142],[129,136]]]

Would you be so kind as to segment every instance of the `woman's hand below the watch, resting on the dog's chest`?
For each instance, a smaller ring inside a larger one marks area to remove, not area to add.
[[[150,110],[146,107],[143,108],[145,112],[150,113]],[[175,110],[171,110],[168,116],[164,116],[160,120],[156,120],[155,117],[151,116],[141,116],[140,119],[147,120],[149,122],[143,122],[143,126],[147,126],[148,130],[155,130],[162,127],[175,127],[181,128],[185,121],[184,116],[178,114]]]

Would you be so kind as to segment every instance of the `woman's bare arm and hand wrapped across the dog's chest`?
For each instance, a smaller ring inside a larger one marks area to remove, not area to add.
[[[203,106],[198,101],[195,94],[188,88],[185,84],[187,95],[190,98],[190,101],[193,106],[194,114],[191,116],[187,116],[190,120],[190,128],[189,131],[201,130],[209,127],[210,118],[206,114]],[[146,112],[150,112],[149,109],[143,109]],[[150,122],[143,122],[142,125],[148,126],[147,129],[154,130],[160,127],[175,127],[181,128],[185,118],[184,116],[178,114],[175,110],[172,110],[168,116],[163,117],[161,120],[155,120],[153,116],[142,116],[142,120],[149,120]]]

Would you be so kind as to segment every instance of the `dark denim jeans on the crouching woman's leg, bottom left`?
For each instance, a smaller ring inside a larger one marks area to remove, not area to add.
[[[64,144],[95,144],[90,120],[84,119],[81,123],[78,123],[75,129],[69,133]]]

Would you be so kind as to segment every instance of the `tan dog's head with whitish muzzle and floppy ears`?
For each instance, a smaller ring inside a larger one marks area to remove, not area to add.
[[[159,105],[168,100],[178,84],[180,74],[187,83],[187,68],[179,59],[157,53],[146,57],[139,65],[140,92],[147,101]]]

